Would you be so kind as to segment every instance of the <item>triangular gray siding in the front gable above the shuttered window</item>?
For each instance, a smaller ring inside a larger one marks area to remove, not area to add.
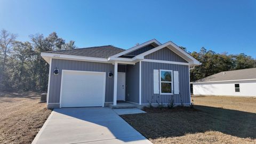
[[[178,54],[174,53],[167,47],[146,55],[145,59],[187,62],[185,59],[181,58]]]

